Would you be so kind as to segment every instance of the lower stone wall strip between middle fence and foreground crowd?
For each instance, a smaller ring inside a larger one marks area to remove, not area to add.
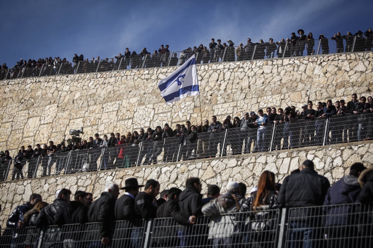
[[[66,187],[72,192],[93,192],[94,199],[97,199],[107,182],[113,181],[124,186],[125,179],[129,177],[138,178],[140,184],[151,178],[156,179],[160,182],[161,190],[170,187],[184,189],[186,178],[199,177],[204,194],[208,184],[217,184],[225,192],[226,184],[232,180],[244,182],[250,191],[257,185],[264,170],[273,171],[276,181],[282,182],[286,175],[299,168],[306,159],[313,160],[316,171],[334,183],[349,173],[348,168],[354,162],[373,165],[373,141],[3,182],[0,183],[0,204],[3,206],[0,225],[5,226],[10,212],[26,202],[31,193],[40,193],[44,201],[52,203],[55,192]]]

